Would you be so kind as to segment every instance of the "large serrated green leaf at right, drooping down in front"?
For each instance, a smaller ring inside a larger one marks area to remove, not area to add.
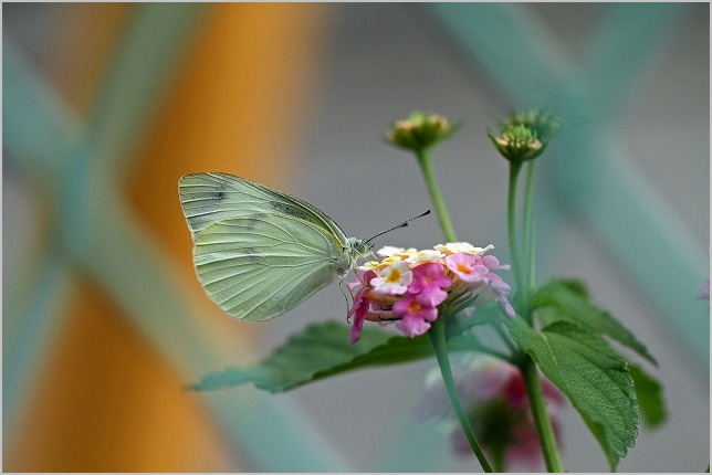
[[[626,360],[598,335],[570,321],[542,331],[522,318],[505,320],[512,338],[572,401],[611,469],[638,436],[638,404]]]

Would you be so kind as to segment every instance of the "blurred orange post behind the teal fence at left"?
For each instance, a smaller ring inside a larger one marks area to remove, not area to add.
[[[4,6],[3,6],[4,7]],[[91,107],[132,14],[129,3],[55,4],[54,52],[43,67],[67,104]],[[308,74],[318,67],[327,4],[218,3],[195,33],[157,113],[143,131],[125,201],[203,295],[189,258],[177,198],[181,175],[230,170],[279,187],[299,167]],[[244,67],[249,64],[249,67]],[[207,299],[206,299],[207,302]],[[212,305],[205,313],[230,331]],[[238,471],[198,398],[123,317],[105,291],[82,277],[62,310],[32,401],[4,432],[9,472]],[[250,327],[252,329],[254,327]],[[259,331],[255,329],[254,331]],[[234,331],[233,331],[234,332]],[[250,345],[244,331],[235,340]]]

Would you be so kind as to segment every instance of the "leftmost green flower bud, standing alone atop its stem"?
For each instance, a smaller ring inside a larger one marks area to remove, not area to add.
[[[394,123],[388,141],[409,150],[425,150],[449,137],[457,128],[441,115],[413,112],[408,118]]]

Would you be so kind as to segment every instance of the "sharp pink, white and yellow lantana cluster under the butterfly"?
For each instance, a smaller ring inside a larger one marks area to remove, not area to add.
[[[412,338],[428,331],[440,312],[451,308],[451,304],[475,297],[478,305],[499,299],[506,315],[514,318],[506,297],[510,286],[493,272],[510,266],[500,265],[493,255],[484,255],[491,249],[492,245],[475,247],[456,242],[422,251],[391,246],[378,250],[383,258],[358,266],[358,281],[349,284],[355,292],[347,317],[354,318],[352,344],[359,340],[365,320],[395,323]],[[473,310],[468,306],[457,313]]]

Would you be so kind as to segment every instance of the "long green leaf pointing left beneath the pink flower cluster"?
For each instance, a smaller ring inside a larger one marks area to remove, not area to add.
[[[408,338],[371,327],[364,328],[358,344],[350,345],[349,331],[350,327],[335,321],[310,325],[258,365],[210,373],[189,389],[213,391],[251,382],[270,392],[282,392],[346,371],[433,356],[427,335]],[[477,344],[462,335],[451,338],[448,349],[477,349]]]

